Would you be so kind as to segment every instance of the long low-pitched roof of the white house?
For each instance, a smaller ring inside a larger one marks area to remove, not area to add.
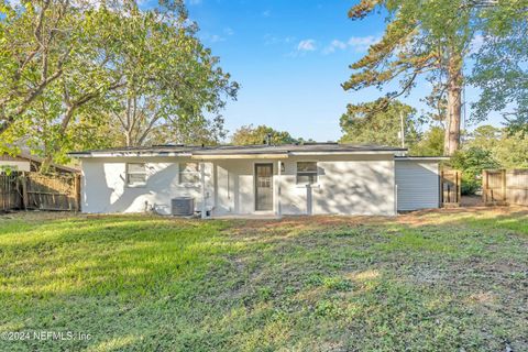
[[[75,157],[112,157],[112,156],[191,156],[196,158],[229,157],[240,155],[287,156],[317,154],[386,154],[406,152],[407,148],[385,145],[304,143],[284,145],[154,145],[136,147],[116,147],[69,153]]]

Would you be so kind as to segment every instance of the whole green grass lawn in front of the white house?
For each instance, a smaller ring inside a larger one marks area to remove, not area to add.
[[[527,351],[528,211],[0,216],[0,306],[90,334],[1,351]]]

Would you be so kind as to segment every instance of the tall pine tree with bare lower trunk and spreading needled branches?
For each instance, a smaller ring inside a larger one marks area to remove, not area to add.
[[[447,101],[444,154],[452,155],[460,144],[463,65],[475,37],[477,1],[361,0],[349,18],[363,19],[377,8],[388,12],[385,33],[351,65],[354,73],[343,88],[382,88],[399,78],[400,89],[387,94],[394,99],[408,94],[417,77],[427,77],[436,99]]]

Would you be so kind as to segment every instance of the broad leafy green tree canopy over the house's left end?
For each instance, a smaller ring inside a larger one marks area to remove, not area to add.
[[[62,1],[44,0],[2,4],[8,14],[0,18],[7,33],[0,41],[0,61],[14,67],[0,68],[4,78],[0,101],[9,102],[0,129],[4,145],[23,139],[45,157],[45,170],[74,145],[196,143],[223,136],[219,111],[226,99],[235,97],[238,85],[197,40],[197,28],[188,21],[182,1],[161,1],[146,11],[132,0],[64,2],[63,8]],[[34,33],[50,22],[40,25],[40,18],[54,15],[64,21],[57,22],[64,29],[58,24],[48,29],[61,33],[61,42],[53,42],[56,47],[33,55],[32,45],[21,42],[12,50],[7,44],[22,33],[30,43],[36,42],[35,47],[40,41],[47,45],[52,34],[40,40]],[[26,72],[19,82],[21,67]],[[59,74],[40,85],[51,68]],[[11,98],[18,86],[38,89],[26,101]],[[24,109],[10,108],[20,102]]]

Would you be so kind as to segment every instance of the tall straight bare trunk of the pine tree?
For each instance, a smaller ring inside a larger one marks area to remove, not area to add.
[[[460,121],[462,116],[462,55],[452,53],[448,67],[448,109],[443,154],[451,156],[460,146]]]

